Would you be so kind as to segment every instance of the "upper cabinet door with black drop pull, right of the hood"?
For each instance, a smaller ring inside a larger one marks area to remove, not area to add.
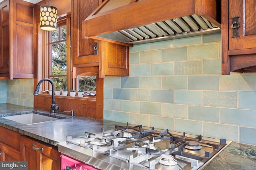
[[[256,0],[229,0],[229,50],[256,48]],[[235,19],[233,19],[235,18]],[[233,20],[238,20],[238,24]],[[232,29],[231,27],[238,27]],[[238,35],[234,36],[238,29]]]

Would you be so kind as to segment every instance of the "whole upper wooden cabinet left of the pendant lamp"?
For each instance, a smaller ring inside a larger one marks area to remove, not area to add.
[[[0,10],[0,77],[34,78],[35,5],[5,0]]]

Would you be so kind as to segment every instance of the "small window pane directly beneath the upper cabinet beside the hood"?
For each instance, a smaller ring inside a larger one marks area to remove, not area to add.
[[[84,91],[96,91],[96,77],[79,76],[79,89]]]

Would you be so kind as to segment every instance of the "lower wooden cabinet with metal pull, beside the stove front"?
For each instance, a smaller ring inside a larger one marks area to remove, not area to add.
[[[23,156],[28,170],[60,170],[60,152],[50,145],[23,137]]]

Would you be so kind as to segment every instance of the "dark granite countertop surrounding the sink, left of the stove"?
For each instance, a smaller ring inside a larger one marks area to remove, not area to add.
[[[16,131],[20,134],[38,139],[40,141],[57,146],[59,142],[66,141],[66,136],[71,135],[72,138],[84,135],[85,131],[97,133],[103,127],[105,130],[113,129],[115,125],[126,125],[103,119],[92,117],[84,117],[75,115],[70,117],[70,113],[56,113],[54,116],[65,117],[57,121],[48,121],[38,124],[25,125],[2,117],[14,113],[38,111],[40,113],[50,113],[46,110],[38,110],[30,107],[16,106],[12,104],[0,104],[0,126]]]

